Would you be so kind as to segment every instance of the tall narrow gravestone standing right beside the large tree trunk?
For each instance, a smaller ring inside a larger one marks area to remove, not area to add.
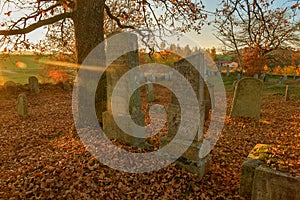
[[[122,84],[121,88],[118,88],[120,92],[117,93],[117,105],[115,105],[117,107],[117,116],[115,117],[118,119],[114,118],[112,114],[112,94],[114,89],[116,89],[117,82],[126,72],[139,65],[137,36],[131,33],[122,33],[120,37],[122,37],[121,43],[119,38],[118,40],[110,40],[110,43],[107,44],[106,59],[108,63],[113,62],[108,67],[106,79],[104,80],[104,84],[106,85],[104,88],[107,95],[104,100],[107,102],[104,104],[105,107],[102,106],[101,108],[103,131],[109,138],[142,147],[145,144],[145,138],[134,137],[132,135],[136,130],[133,129],[132,124],[128,120],[132,119],[137,125],[145,126],[140,89],[135,90],[133,95],[129,97],[129,91],[135,87],[134,84],[137,84],[135,78],[139,77],[140,74],[136,74],[137,77],[126,79],[125,84]],[[131,49],[135,50],[131,51]],[[116,60],[112,60],[116,57],[115,55],[122,56]],[[130,99],[129,106],[126,99]],[[125,124],[123,125],[127,126],[126,130],[130,133],[125,133],[116,121],[124,122]]]

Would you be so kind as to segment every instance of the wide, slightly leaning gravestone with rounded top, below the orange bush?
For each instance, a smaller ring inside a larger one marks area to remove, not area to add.
[[[231,117],[252,117],[260,119],[263,83],[257,78],[243,78],[237,82],[234,91]]]

